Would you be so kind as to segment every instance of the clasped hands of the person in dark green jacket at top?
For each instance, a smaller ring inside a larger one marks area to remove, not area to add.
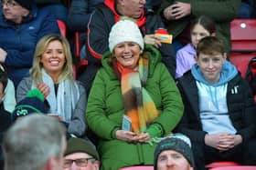
[[[176,2],[169,5],[164,10],[164,16],[167,20],[177,20],[191,14],[191,5],[189,3]]]

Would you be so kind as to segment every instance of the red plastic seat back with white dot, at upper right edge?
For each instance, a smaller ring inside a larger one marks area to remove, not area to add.
[[[256,52],[256,19],[234,19],[230,33],[231,52]]]

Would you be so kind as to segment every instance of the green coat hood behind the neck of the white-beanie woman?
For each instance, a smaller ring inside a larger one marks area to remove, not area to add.
[[[161,62],[161,54],[160,52],[152,45],[144,45],[144,53],[149,57],[149,76],[153,74],[155,70],[155,66]],[[112,53],[110,51],[106,51],[101,58],[101,65],[104,70],[114,77],[116,77],[114,73],[114,69],[112,66],[112,62],[110,61],[112,57]]]

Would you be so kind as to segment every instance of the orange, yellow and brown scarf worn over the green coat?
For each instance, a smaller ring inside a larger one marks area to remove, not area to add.
[[[145,132],[146,127],[159,115],[155,103],[144,85],[148,75],[148,57],[139,59],[138,69],[126,68],[116,63],[121,74],[121,86],[125,115],[132,121],[132,131],[136,134]]]

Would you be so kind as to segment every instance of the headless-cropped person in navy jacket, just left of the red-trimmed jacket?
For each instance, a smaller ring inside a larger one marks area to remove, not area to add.
[[[69,15],[67,25],[69,30],[73,32],[80,32],[80,42],[87,42],[86,32],[89,19],[92,11],[94,11],[96,5],[103,3],[104,0],[72,0],[69,7]],[[83,44],[80,50],[80,59],[87,58],[87,48]]]

